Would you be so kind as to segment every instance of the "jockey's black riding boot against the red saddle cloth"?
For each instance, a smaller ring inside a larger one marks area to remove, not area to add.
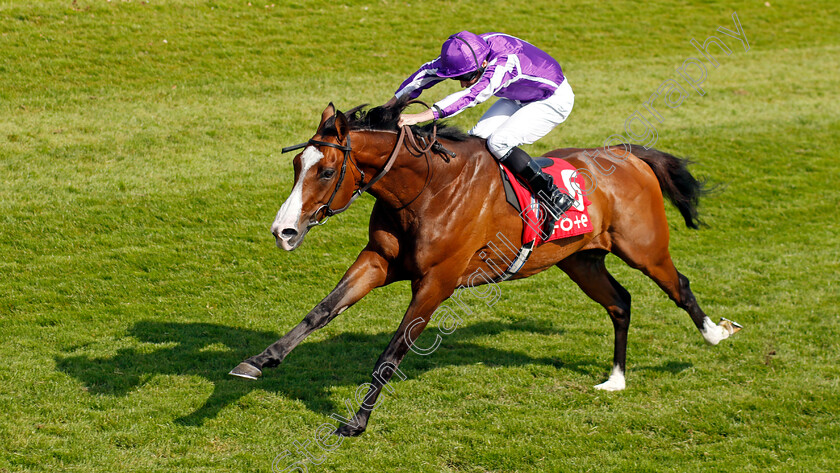
[[[548,238],[554,233],[554,224],[574,205],[575,199],[558,189],[554,184],[554,179],[544,173],[539,164],[531,159],[525,151],[512,148],[501,161],[514,174],[524,179],[543,203],[543,207],[546,209],[543,212],[545,217],[543,236]]]

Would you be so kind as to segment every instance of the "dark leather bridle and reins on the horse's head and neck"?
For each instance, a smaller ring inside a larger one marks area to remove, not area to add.
[[[411,104],[411,103],[420,103],[422,105],[426,105],[425,103],[423,103],[419,100],[409,102],[409,104]],[[428,105],[426,105],[426,107],[428,107]],[[429,145],[425,148],[421,148],[417,144],[417,141],[414,137],[414,133],[411,132],[411,129],[408,126],[404,126],[404,127],[400,128],[400,134],[399,134],[399,138],[397,139],[397,144],[394,146],[394,150],[391,152],[391,156],[388,157],[388,161],[385,162],[385,166],[382,168],[381,171],[379,171],[379,174],[374,176],[370,181],[367,182],[367,184],[362,184],[365,181],[365,172],[362,171],[362,169],[359,167],[359,165],[356,163],[356,161],[354,161],[350,156],[353,149],[351,148],[351,145],[350,145],[350,134],[349,133],[347,134],[347,137],[344,140],[347,143],[346,145],[342,145],[341,143],[330,143],[328,141],[319,141],[319,140],[315,140],[315,139],[310,139],[306,143],[300,143],[300,144],[297,144],[297,145],[294,145],[294,146],[287,146],[287,147],[283,148],[281,150],[281,153],[288,153],[289,151],[294,151],[294,150],[298,150],[298,149],[301,149],[301,148],[305,148],[309,145],[316,146],[316,147],[327,146],[329,148],[335,148],[335,149],[338,149],[338,150],[341,150],[341,151],[344,152],[344,159],[341,163],[341,171],[338,174],[338,182],[336,182],[335,189],[333,189],[333,193],[332,193],[332,195],[330,195],[330,198],[327,201],[327,203],[322,205],[320,208],[318,208],[318,210],[314,214],[312,214],[314,220],[310,220],[309,223],[307,224],[306,228],[310,229],[312,227],[316,227],[316,226],[323,225],[323,224],[327,223],[327,220],[329,220],[330,217],[332,217],[333,215],[340,214],[341,212],[344,212],[345,210],[350,208],[350,205],[353,202],[355,202],[356,199],[361,197],[362,194],[364,194],[365,192],[368,191],[368,189],[373,187],[373,185],[376,184],[376,182],[378,180],[382,179],[385,176],[385,174],[387,174],[388,171],[391,170],[391,167],[394,165],[394,161],[397,160],[397,155],[399,154],[400,148],[402,147],[402,144],[405,141],[406,136],[409,136],[409,139],[408,139],[409,143],[411,144],[412,148],[414,148],[415,152],[425,154],[425,153],[428,153],[429,151],[434,150],[434,151],[445,153],[452,158],[455,157],[455,153],[447,150],[437,141],[437,125],[434,126],[433,131],[432,131],[432,136],[429,140]],[[421,140],[422,140],[422,138],[421,138]],[[344,176],[347,174],[347,162],[348,161],[353,163],[353,167],[355,167],[356,170],[359,171],[360,177],[359,177],[358,182],[361,185],[356,190],[353,191],[353,195],[350,196],[350,200],[347,202],[347,204],[344,207],[342,207],[340,209],[333,209],[331,207],[331,205],[332,205],[333,200],[335,199],[335,196],[338,194],[338,190],[341,188],[341,184],[344,182]],[[320,214],[322,211],[323,211],[324,218],[322,218],[321,220],[317,220],[318,214]]]

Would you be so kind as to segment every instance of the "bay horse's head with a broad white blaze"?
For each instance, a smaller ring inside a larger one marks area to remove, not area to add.
[[[315,136],[295,156],[292,193],[271,225],[278,247],[294,250],[311,227],[350,202],[360,176],[355,166],[347,165],[348,134],[347,117],[329,104]]]

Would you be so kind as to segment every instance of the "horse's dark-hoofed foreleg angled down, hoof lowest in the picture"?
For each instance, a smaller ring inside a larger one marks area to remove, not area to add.
[[[379,356],[373,369],[373,379],[368,385],[367,394],[363,399],[356,399],[360,404],[359,410],[351,419],[339,418],[342,425],[336,430],[336,435],[356,436],[367,428],[368,419],[373,409],[376,408],[377,398],[384,387],[393,392],[389,384],[395,373],[401,379],[406,376],[399,371],[399,365],[408,349],[426,328],[426,324],[432,318],[435,310],[447,297],[451,296],[455,289],[455,283],[446,284],[434,277],[426,276],[421,281],[412,285],[413,297],[408,310],[403,317],[402,323],[394,333],[388,347]],[[357,391],[358,392],[358,391]]]

